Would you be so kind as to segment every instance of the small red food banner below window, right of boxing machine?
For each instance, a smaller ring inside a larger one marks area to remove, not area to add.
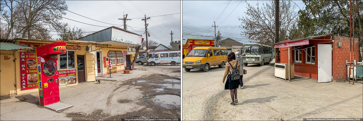
[[[58,70],[59,86],[75,84],[77,82],[76,69]]]

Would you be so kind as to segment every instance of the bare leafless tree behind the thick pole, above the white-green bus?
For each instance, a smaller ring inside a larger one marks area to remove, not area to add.
[[[280,1],[280,41],[294,39],[290,37],[299,37],[298,32],[293,28],[296,26],[298,18],[297,12],[294,12],[295,8],[296,5],[291,4],[291,1]],[[275,39],[276,24],[274,2],[262,3],[262,6],[259,6],[258,3],[256,6],[247,3],[245,14],[245,16],[238,17],[238,20],[241,21],[241,36],[245,36],[254,42],[272,45]],[[290,33],[291,31],[293,33]]]

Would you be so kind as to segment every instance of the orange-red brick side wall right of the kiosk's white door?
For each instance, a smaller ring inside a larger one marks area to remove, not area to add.
[[[333,81],[347,80],[347,66],[346,60],[350,61],[350,40],[349,37],[333,37]],[[342,47],[337,47],[337,44],[341,42]],[[354,60],[359,61],[358,55],[358,38],[354,40]],[[353,46],[353,44],[352,44]],[[352,48],[353,51],[353,48]],[[353,57],[353,53],[352,53]]]

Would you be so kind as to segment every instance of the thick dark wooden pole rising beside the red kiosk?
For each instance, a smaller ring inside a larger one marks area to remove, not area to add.
[[[278,32],[279,32],[279,27],[280,27],[280,22],[279,22],[279,0],[275,0],[275,43],[278,43]],[[289,60],[290,61],[290,60]],[[278,53],[278,48],[275,48],[275,62],[279,63],[280,62],[280,55]],[[290,65],[289,65],[290,67]]]

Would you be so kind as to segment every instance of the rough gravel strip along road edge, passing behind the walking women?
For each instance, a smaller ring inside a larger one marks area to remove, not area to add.
[[[255,72],[254,74],[245,77],[243,80],[243,82],[248,82],[249,80],[251,80],[253,77],[261,74],[262,72],[265,72],[266,70],[272,68],[272,66],[267,65],[264,69],[258,70],[257,72]],[[206,107],[204,108],[204,119],[206,121],[211,121],[213,120],[213,110],[214,110],[214,105],[216,104],[217,100],[221,97],[221,95],[225,93],[225,90],[221,90],[219,91],[215,96],[209,97],[207,99],[207,101],[205,101],[206,103]]]

